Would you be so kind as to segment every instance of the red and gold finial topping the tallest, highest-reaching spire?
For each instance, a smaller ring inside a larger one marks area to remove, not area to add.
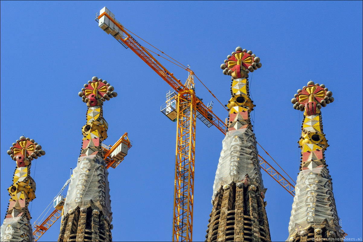
[[[242,50],[241,47],[236,48],[236,52],[227,56],[227,60],[221,65],[223,74],[231,75],[233,79],[247,77],[249,72],[253,72],[260,68],[260,58],[252,54],[252,51]]]

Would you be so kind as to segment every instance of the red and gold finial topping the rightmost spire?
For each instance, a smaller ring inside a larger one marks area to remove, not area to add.
[[[294,109],[305,111],[304,115],[314,115],[320,112],[321,107],[334,102],[333,93],[324,84],[319,85],[310,81],[307,86],[297,90],[291,99]]]

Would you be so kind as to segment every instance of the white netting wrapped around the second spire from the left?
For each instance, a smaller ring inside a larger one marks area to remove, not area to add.
[[[105,161],[99,155],[78,158],[64,204],[64,214],[77,206],[92,206],[111,219],[111,200]]]

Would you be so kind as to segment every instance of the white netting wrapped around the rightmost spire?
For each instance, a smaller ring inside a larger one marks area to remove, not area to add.
[[[333,186],[325,167],[300,171],[289,222],[289,238],[311,225],[326,224],[340,233]]]

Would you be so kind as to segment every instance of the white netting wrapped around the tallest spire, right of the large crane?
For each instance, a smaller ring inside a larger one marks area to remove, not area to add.
[[[229,131],[222,145],[212,200],[221,186],[230,184],[232,181],[244,181],[246,184],[258,186],[260,191],[265,192],[254,133],[248,128]],[[249,179],[246,179],[246,175]]]

